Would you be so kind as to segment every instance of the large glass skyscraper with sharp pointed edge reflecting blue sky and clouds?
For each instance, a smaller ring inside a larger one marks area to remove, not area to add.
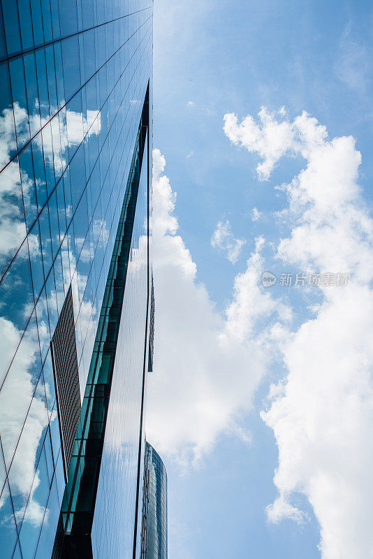
[[[137,559],[152,0],[0,0],[0,556]]]

